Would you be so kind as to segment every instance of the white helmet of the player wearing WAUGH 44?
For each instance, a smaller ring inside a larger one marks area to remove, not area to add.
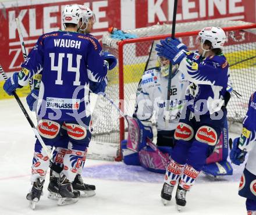
[[[62,11],[62,21],[64,27],[66,27],[65,23],[73,23],[77,24],[79,27],[79,20],[81,19],[81,10],[79,5],[66,5],[64,10]]]

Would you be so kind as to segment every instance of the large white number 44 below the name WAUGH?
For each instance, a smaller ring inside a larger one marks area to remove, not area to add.
[[[55,53],[49,53],[49,57],[51,58],[51,70],[57,71],[57,80],[55,81],[55,84],[62,85],[63,80],[61,79],[62,76],[62,62],[63,58],[65,58],[65,53],[59,53],[58,58],[58,65],[54,66],[54,60],[55,60]],[[76,73],[76,78],[73,82],[74,86],[79,86],[81,83],[79,81],[80,79],[80,62],[81,62],[81,55],[76,55],[76,67],[72,67],[72,61],[73,61],[73,54],[67,53],[67,71],[73,71]]]

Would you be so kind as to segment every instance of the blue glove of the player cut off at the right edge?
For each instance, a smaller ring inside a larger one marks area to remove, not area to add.
[[[230,150],[229,157],[232,163],[240,165],[244,162],[247,152],[239,149],[239,137],[233,140],[232,149]]]

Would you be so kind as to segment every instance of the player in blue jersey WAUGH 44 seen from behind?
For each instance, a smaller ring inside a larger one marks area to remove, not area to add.
[[[22,70],[3,85],[12,95],[16,88],[27,85],[35,74],[42,73],[38,132],[49,149],[61,139],[63,125],[69,137],[68,149],[60,157],[64,168],[59,178],[59,205],[76,202],[80,195],[73,190],[71,182],[91,138],[89,82],[100,83],[109,67],[108,53],[102,51],[98,41],[90,35],[77,33],[81,18],[79,6],[67,5],[62,18],[65,31],[42,35],[22,64]],[[49,158],[37,141],[31,175],[33,187],[27,195],[31,203],[40,199],[48,166]]]

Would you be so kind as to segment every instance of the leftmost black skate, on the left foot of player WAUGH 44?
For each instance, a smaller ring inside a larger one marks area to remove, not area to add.
[[[35,209],[35,205],[39,202],[40,197],[42,195],[42,187],[44,186],[44,180],[41,178],[37,178],[37,180],[33,183],[33,187],[29,193],[27,193],[27,200],[30,200],[31,209]]]

